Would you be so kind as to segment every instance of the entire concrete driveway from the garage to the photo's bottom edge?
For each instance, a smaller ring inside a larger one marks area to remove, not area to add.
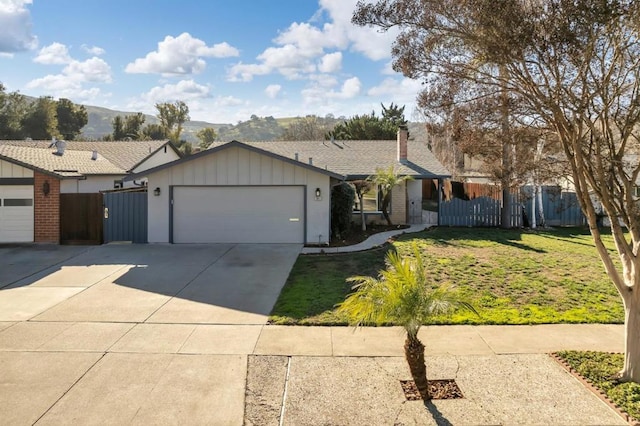
[[[241,424],[301,248],[0,247],[0,424]]]

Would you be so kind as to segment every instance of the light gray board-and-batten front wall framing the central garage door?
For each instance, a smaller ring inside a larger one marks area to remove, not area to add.
[[[308,243],[329,241],[330,177],[305,167],[241,147],[230,147],[152,173],[148,182],[150,243],[169,242],[169,187],[208,185],[306,186],[306,240]],[[160,188],[159,196],[153,195],[155,188]],[[316,200],[316,188],[322,191],[320,200]],[[255,208],[260,209],[260,205]]]

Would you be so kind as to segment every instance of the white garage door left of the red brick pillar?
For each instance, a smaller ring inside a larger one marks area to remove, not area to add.
[[[0,243],[33,242],[33,186],[0,186]]]

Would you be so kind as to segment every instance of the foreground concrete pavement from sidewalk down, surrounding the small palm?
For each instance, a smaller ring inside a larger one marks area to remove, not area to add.
[[[404,400],[397,327],[4,322],[0,423],[625,424],[546,355],[621,351],[623,335],[424,327],[430,378],[465,395],[425,406]]]

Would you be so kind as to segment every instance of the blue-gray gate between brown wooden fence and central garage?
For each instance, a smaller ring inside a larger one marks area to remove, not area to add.
[[[104,194],[104,242],[147,242],[147,193],[107,192]]]

